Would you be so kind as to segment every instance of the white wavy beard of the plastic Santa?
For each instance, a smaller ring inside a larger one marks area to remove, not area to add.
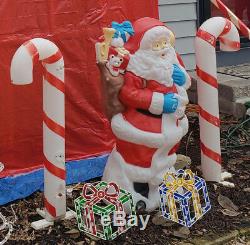
[[[130,56],[127,70],[146,80],[172,86],[173,64],[177,62],[173,48],[160,51],[138,50]]]

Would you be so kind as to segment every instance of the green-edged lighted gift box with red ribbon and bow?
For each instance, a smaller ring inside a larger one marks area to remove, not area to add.
[[[134,226],[127,222],[135,216],[132,195],[115,183],[87,183],[83,186],[82,196],[74,202],[79,230],[89,235],[113,240]],[[119,219],[113,222],[119,215],[124,215],[125,224]]]

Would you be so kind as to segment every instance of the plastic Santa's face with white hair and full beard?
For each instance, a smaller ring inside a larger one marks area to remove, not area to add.
[[[172,86],[173,64],[177,62],[169,31],[161,26],[144,35],[139,50],[130,56],[127,70],[146,80]]]

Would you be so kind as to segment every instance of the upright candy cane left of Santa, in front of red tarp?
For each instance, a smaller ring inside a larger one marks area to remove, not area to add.
[[[43,65],[44,203],[47,221],[66,214],[64,60],[49,40],[34,38],[21,45],[11,62],[11,80],[17,85],[33,82],[33,66]]]

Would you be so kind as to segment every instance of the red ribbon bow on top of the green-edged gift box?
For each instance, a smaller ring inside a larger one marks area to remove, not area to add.
[[[91,206],[103,199],[117,206],[117,204],[120,204],[119,194],[119,187],[113,182],[110,182],[104,190],[97,190],[95,186],[89,183],[85,184],[82,189],[82,196],[87,199],[86,204]]]

